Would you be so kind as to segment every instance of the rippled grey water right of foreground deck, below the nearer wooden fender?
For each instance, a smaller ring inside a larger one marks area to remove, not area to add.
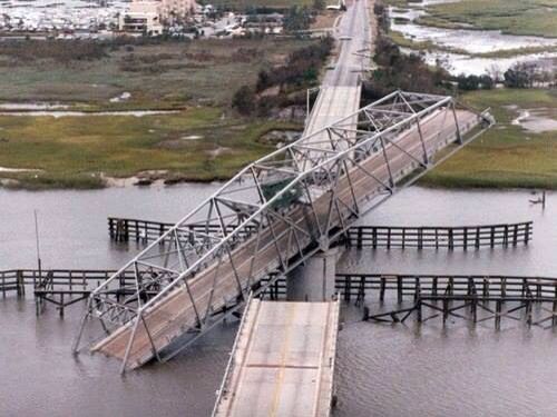
[[[429,321],[348,324],[335,416],[555,416],[557,337]]]

